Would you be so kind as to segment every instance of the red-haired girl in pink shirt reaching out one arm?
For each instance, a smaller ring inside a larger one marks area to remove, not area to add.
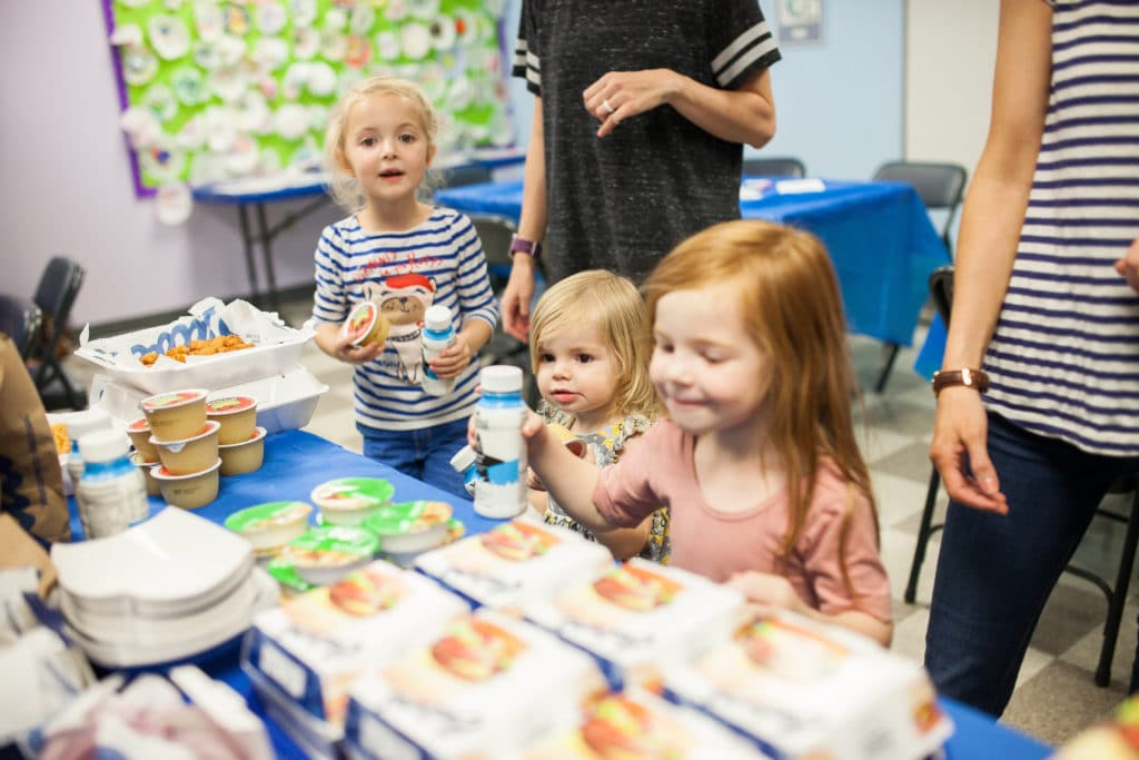
[[[527,418],[530,464],[592,530],[670,507],[672,562],[752,600],[892,631],[853,371],[822,244],[762,221],[711,227],[645,284],[649,376],[670,416],[601,471]]]

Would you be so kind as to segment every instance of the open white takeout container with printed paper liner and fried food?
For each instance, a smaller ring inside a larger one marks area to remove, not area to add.
[[[260,311],[246,301],[227,304],[210,297],[190,307],[187,317],[133,333],[90,341],[84,327],[75,356],[98,365],[115,383],[146,395],[187,387],[212,391],[284,373],[297,363],[313,334],[308,327],[294,329],[276,313]],[[188,356],[185,362],[166,356],[166,351],[189,346],[192,341],[227,335],[239,336],[253,348]],[[141,361],[148,353],[157,354],[151,366]]]

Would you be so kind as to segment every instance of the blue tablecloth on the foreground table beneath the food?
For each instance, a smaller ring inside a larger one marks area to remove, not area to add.
[[[330,441],[305,433],[287,431],[265,439],[265,461],[261,469],[247,475],[223,476],[218,499],[196,509],[195,514],[213,522],[262,501],[284,499],[308,500],[312,489],[334,477],[385,477],[395,487],[396,500],[433,499],[448,501],[454,516],[464,522],[467,533],[482,533],[501,521],[475,514],[470,501],[458,499],[426,483],[408,477],[386,465],[353,453]],[[151,497],[151,513],[165,508],[161,498]],[[73,530],[79,528],[74,516]],[[301,759],[304,752],[271,719],[257,700],[248,677],[238,667],[238,647],[228,645],[195,660],[212,677],[221,679],[240,693],[254,712],[262,716],[278,758]],[[957,730],[947,744],[949,760],[1002,758],[1003,760],[1040,760],[1051,752],[1039,742],[1002,726],[978,712],[949,700],[941,701],[952,717]]]

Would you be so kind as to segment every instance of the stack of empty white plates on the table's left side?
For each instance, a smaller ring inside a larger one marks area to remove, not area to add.
[[[56,544],[51,559],[75,641],[108,668],[192,657],[278,603],[246,540],[173,507],[117,536]]]

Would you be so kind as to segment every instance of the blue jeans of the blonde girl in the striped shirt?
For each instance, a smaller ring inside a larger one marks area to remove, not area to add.
[[[363,435],[363,456],[470,500],[462,487],[462,475],[451,467],[451,457],[467,444],[466,418],[411,431],[382,431],[363,425],[357,425],[357,430]]]

